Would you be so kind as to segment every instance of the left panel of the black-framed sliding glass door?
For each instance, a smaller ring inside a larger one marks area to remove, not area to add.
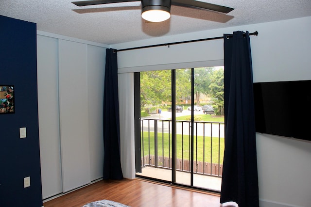
[[[137,175],[172,182],[172,109],[168,107],[172,103],[172,71],[140,72],[135,76],[139,76],[139,85],[137,79],[135,82],[139,106],[137,101],[135,111],[140,115],[135,118],[137,143],[140,140],[136,163],[140,161],[142,166],[141,171],[136,170]]]

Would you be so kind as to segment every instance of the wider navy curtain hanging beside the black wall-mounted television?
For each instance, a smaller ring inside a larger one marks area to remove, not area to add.
[[[225,154],[220,202],[259,207],[249,33],[224,34],[224,55]]]

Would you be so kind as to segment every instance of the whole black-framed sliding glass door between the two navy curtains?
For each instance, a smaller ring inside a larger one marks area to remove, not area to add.
[[[137,176],[220,191],[224,118],[218,70],[223,72],[205,67],[135,74]]]

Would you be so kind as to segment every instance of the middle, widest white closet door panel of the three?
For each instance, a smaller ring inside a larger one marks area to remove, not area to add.
[[[63,192],[91,182],[87,45],[59,40],[59,110]]]

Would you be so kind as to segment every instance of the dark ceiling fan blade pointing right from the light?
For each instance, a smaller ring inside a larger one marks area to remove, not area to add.
[[[212,4],[212,3],[206,3],[202,1],[196,1],[196,0],[172,0],[172,5],[195,8],[195,9],[207,9],[207,10],[212,10],[212,11],[221,12],[225,14],[234,10],[233,8],[230,8],[230,7],[221,6],[221,5]]]

